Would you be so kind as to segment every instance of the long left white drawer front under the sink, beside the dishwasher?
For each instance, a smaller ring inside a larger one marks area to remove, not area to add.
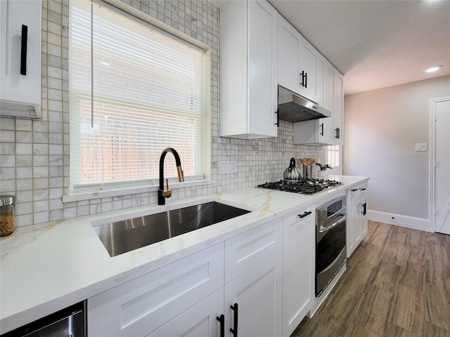
[[[89,298],[89,337],[147,336],[223,285],[217,244]]]

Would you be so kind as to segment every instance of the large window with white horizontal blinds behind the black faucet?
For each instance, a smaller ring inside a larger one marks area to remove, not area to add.
[[[103,3],[70,27],[72,190],[158,178],[166,147],[202,177],[203,50]]]

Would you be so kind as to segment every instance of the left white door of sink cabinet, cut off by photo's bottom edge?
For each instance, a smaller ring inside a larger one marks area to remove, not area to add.
[[[222,312],[223,288],[150,333],[148,337],[220,337],[221,322],[217,317],[220,317]]]

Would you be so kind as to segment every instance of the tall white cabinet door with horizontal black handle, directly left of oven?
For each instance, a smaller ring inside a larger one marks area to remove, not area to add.
[[[283,336],[289,337],[314,298],[314,209],[283,217]]]

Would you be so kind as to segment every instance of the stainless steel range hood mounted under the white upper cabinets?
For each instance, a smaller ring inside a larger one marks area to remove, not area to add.
[[[330,111],[283,86],[278,86],[278,114],[279,119],[290,123],[331,117]]]

